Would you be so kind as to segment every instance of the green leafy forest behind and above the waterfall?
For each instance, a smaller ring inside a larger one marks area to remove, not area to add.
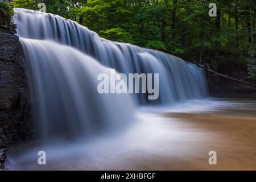
[[[102,38],[158,49],[187,61],[208,63],[215,71],[246,69],[255,79],[256,2],[216,0],[14,0],[14,7],[72,19]]]

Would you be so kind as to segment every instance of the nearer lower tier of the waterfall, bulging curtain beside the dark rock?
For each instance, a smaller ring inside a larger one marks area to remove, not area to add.
[[[20,40],[44,139],[90,135],[132,121],[128,95],[97,92],[97,75],[110,75],[111,69],[71,47],[49,40]]]

